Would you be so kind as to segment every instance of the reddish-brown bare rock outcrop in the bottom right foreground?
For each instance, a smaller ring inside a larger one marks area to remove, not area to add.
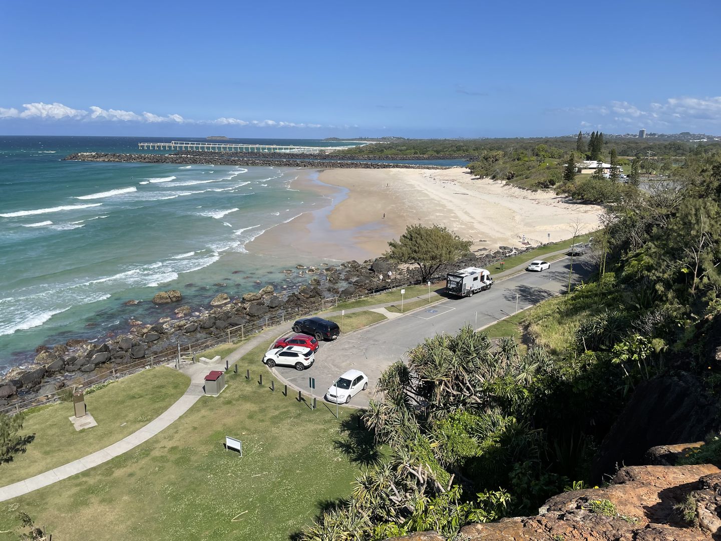
[[[682,513],[676,506],[684,502]],[[721,536],[719,509],[721,470],[713,465],[632,466],[605,488],[554,496],[537,516],[466,526],[459,540],[711,540]],[[422,532],[396,541],[443,539]]]

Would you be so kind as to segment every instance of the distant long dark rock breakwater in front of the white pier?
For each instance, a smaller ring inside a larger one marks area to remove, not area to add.
[[[316,156],[317,158],[317,156]],[[69,154],[63,160],[79,162],[133,162],[146,164],[216,164],[216,165],[253,165],[260,167],[308,167],[310,169],[448,169],[438,165],[385,164],[379,162],[335,162],[327,159],[273,159],[250,158],[244,154],[223,155],[216,152],[195,154],[106,154],[104,152],[79,152]]]

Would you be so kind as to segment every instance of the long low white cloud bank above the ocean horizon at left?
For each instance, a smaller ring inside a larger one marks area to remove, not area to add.
[[[190,120],[183,118],[181,115],[156,115],[143,111],[143,113],[133,113],[122,109],[103,109],[97,105],[89,107],[89,111],[82,109],[74,109],[63,105],[62,103],[47,104],[43,102],[27,103],[23,105],[25,109],[17,110],[15,107],[0,107],[0,119],[3,118],[40,118],[40,119],[69,119],[102,121],[110,120],[112,122],[138,122],[138,123],[177,123],[177,124],[212,124],[218,126],[258,126],[260,128],[278,127],[278,128],[321,128],[321,124],[280,122],[275,120],[240,120],[239,118],[221,117],[216,120]]]

